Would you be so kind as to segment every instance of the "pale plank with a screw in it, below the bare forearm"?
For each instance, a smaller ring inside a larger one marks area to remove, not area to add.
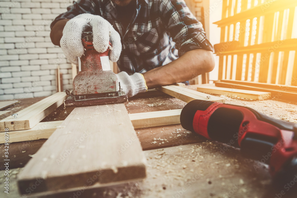
[[[168,86],[162,86],[156,88],[159,91],[164,92],[165,94],[168,94],[170,96],[173,96],[177,99],[180,99],[184,102],[190,102],[192,100],[207,100],[207,101],[214,101],[214,102],[225,102],[225,99],[217,97],[217,96],[211,96],[209,94],[204,94],[192,89],[187,89],[183,87],[179,87],[176,85],[168,85]],[[207,96],[210,98],[208,99]]]

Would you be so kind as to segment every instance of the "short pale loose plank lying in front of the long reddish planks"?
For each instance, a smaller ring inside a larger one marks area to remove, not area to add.
[[[243,90],[243,89],[230,89],[230,88],[222,88],[222,87],[214,87],[214,86],[200,86],[200,87],[197,87],[197,91],[201,91],[209,94],[217,94],[217,95],[227,95],[227,96],[236,95],[241,98],[247,98],[252,100],[269,99],[271,95],[269,92],[249,91],[249,90]]]

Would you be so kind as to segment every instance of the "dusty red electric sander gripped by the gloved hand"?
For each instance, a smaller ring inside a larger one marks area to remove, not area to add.
[[[73,79],[72,92],[66,90],[68,98],[64,102],[65,107],[127,102],[128,96],[121,89],[116,74],[110,70],[110,48],[103,53],[97,52],[93,46],[92,31],[83,32],[82,43],[85,52],[78,57],[79,72]]]

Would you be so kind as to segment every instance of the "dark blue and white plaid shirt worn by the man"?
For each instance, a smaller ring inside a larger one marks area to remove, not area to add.
[[[121,71],[144,73],[165,65],[194,49],[213,51],[202,24],[183,0],[137,0],[127,30],[117,19],[116,4],[110,0],[78,0],[51,23],[82,13],[100,15],[119,32],[122,52]]]

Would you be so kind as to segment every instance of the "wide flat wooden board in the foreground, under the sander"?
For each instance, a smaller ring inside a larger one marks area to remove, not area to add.
[[[146,158],[124,104],[76,107],[18,175],[22,194],[97,188],[146,177]],[[93,178],[90,181],[89,178]]]

